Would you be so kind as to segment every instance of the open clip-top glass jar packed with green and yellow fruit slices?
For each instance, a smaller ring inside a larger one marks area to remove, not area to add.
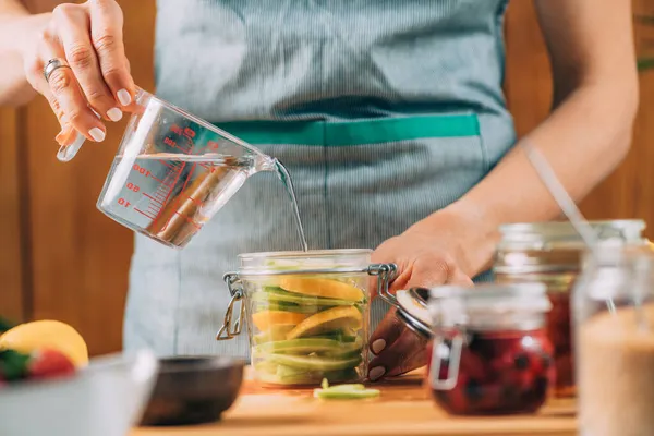
[[[370,250],[253,253],[226,275],[232,302],[218,339],[247,324],[255,377],[265,385],[360,382],[367,374],[368,280],[389,279]],[[392,267],[395,270],[395,267]],[[240,315],[234,311],[240,303]]]

